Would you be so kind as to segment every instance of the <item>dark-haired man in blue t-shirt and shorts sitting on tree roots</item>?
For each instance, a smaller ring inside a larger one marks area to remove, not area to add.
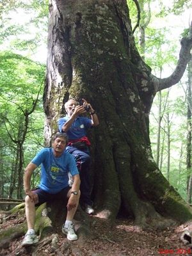
[[[35,234],[35,205],[43,204],[61,198],[67,201],[67,218],[62,227],[63,234],[68,240],[77,240],[72,220],[76,213],[80,197],[80,178],[76,161],[65,151],[67,137],[57,133],[52,142],[52,148],[44,148],[36,154],[28,164],[24,173],[24,191],[26,193],[26,219],[28,232],[22,241],[22,246],[38,243]],[[38,189],[31,191],[30,180],[33,171],[41,165],[41,180]],[[71,173],[74,182],[72,188],[68,186],[68,172]]]

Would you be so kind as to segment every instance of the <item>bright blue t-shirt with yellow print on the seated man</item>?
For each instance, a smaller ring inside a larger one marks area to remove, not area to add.
[[[38,187],[51,194],[56,194],[68,186],[68,172],[72,176],[79,174],[74,157],[65,151],[60,157],[55,157],[52,148],[43,148],[31,162],[37,166],[41,164]]]

